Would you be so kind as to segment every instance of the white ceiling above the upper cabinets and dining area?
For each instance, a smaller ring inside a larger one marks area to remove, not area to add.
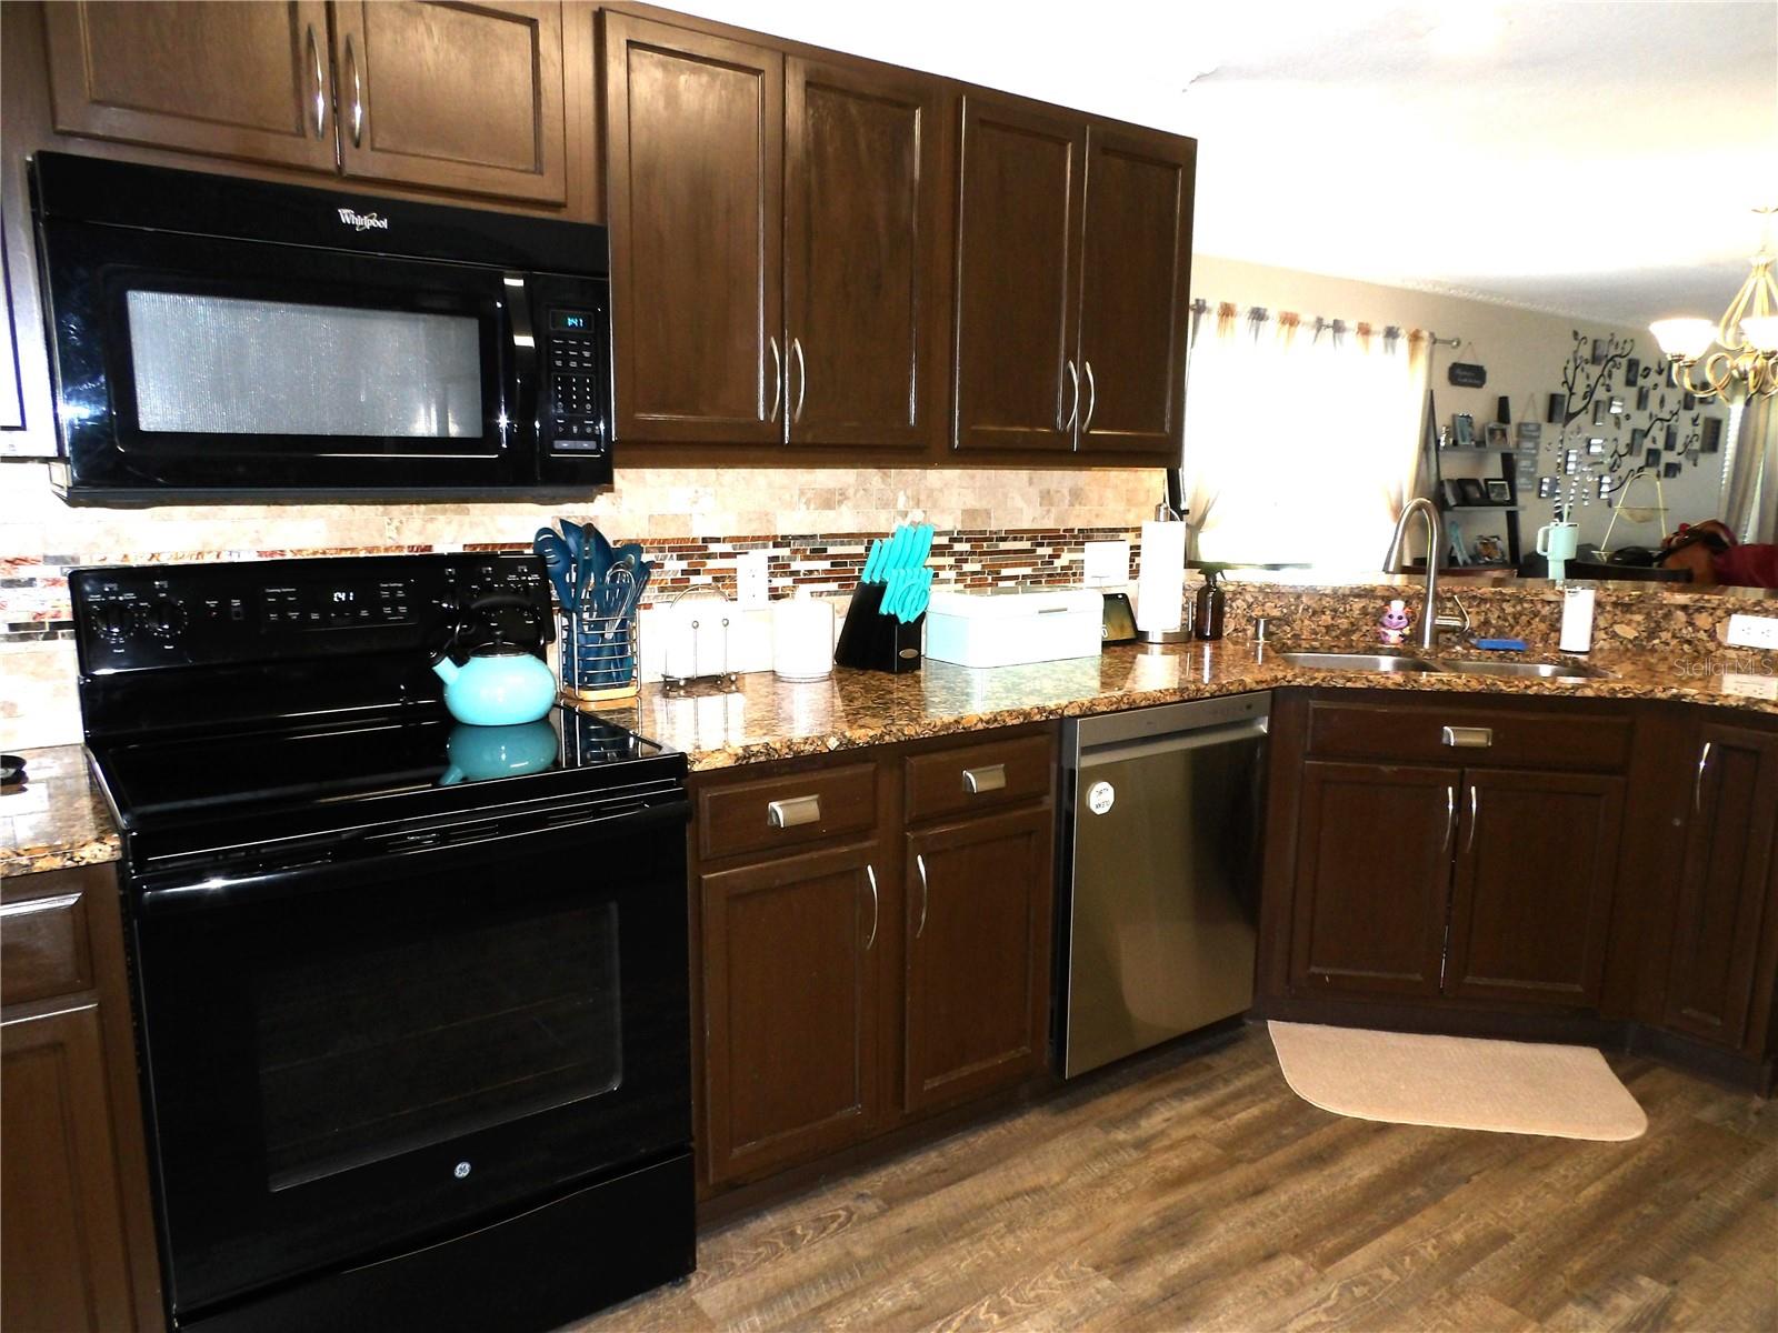
[[[1198,139],[1195,247],[1716,318],[1778,204],[1778,0],[669,0]]]

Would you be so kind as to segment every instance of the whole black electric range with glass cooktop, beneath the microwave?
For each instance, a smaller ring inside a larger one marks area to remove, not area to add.
[[[546,1329],[688,1273],[685,755],[457,723],[428,666],[542,652],[539,562],[71,590],[171,1322]]]

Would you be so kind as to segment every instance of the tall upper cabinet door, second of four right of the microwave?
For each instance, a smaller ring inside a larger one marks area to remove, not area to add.
[[[786,62],[791,444],[942,441],[941,101],[919,75]]]

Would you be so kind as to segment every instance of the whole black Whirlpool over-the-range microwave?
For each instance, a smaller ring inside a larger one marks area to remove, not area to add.
[[[32,160],[71,503],[612,480],[605,227]]]

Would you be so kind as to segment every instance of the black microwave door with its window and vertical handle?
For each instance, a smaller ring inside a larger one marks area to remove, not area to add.
[[[528,283],[50,219],[69,491],[535,485]]]

